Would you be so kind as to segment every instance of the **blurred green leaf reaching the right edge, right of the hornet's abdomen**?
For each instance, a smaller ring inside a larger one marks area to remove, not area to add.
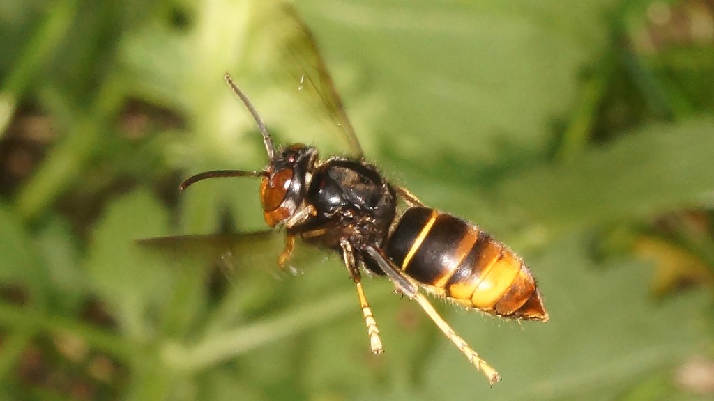
[[[504,181],[496,203],[550,229],[698,205],[714,190],[713,131],[711,119],[643,128],[590,148],[572,164],[540,166]]]

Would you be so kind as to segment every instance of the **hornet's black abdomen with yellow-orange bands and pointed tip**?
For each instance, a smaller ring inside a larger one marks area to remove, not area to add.
[[[385,249],[406,275],[459,305],[504,318],[548,320],[523,260],[466,220],[409,208]]]

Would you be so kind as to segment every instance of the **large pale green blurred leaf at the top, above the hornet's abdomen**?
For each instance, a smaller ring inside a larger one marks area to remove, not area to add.
[[[449,153],[473,168],[514,150],[543,157],[552,118],[572,108],[578,72],[607,44],[605,15],[617,3],[323,0],[298,8],[332,61],[355,125],[368,118],[351,108],[358,88],[381,103],[374,126],[358,129],[361,141],[408,160],[422,160],[425,149]],[[365,86],[346,85],[353,76]]]

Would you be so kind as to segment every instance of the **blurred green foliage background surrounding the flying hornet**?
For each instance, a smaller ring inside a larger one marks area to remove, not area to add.
[[[0,398],[713,400],[714,3],[474,3],[294,16],[368,158],[538,278],[545,324],[436,301],[503,382],[383,279],[371,355],[335,258],[136,245],[264,227],[256,181],[176,190],[266,163],[226,71],[278,143],[348,151],[281,4],[4,0]]]

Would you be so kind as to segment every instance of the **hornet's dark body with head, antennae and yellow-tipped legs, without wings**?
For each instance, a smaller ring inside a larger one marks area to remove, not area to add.
[[[302,143],[276,148],[248,96],[227,73],[225,79],[256,121],[268,166],[261,171],[207,171],[186,179],[180,189],[206,178],[260,178],[263,217],[271,228],[285,228],[278,264],[288,263],[296,237],[341,255],[357,290],[373,354],[381,354],[383,347],[361,269],[386,276],[398,293],[416,300],[491,385],[501,380],[423,293],[488,315],[545,322],[548,313],[523,260],[475,224],[428,208],[408,189],[389,183],[361,155],[321,160],[316,148]],[[399,200],[407,205],[401,213]]]

